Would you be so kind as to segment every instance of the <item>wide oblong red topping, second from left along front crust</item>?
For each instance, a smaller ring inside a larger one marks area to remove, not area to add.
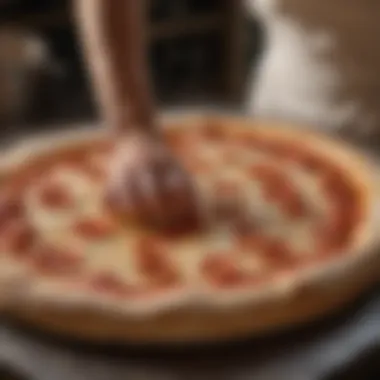
[[[74,275],[83,263],[77,253],[51,246],[36,248],[33,261],[38,271],[47,275]]]

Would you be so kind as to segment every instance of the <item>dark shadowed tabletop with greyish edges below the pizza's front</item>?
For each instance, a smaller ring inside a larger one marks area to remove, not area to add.
[[[0,327],[0,363],[37,380],[325,380],[379,345],[380,289],[324,321],[217,346],[95,347]]]

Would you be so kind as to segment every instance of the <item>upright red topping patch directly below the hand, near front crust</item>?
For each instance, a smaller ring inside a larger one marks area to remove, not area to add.
[[[140,271],[155,282],[173,284],[178,281],[162,242],[154,238],[143,239],[137,249],[137,265]]]

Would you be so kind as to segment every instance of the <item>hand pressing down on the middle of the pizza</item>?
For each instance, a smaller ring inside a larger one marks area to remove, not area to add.
[[[149,132],[129,132],[109,169],[108,199],[129,219],[183,230],[198,224],[195,189],[164,142]]]

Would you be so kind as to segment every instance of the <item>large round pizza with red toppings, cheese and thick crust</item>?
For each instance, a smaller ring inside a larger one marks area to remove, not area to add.
[[[87,339],[217,339],[315,318],[377,280],[376,181],[361,154],[238,117],[172,118],[164,134],[194,178],[201,230],[118,218],[105,196],[115,142],[99,131],[5,154],[5,314]]]

